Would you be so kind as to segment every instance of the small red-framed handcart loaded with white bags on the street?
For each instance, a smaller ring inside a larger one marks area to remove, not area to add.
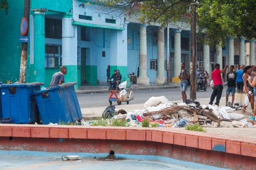
[[[120,95],[122,90],[120,90],[120,91],[119,90],[110,90],[110,92],[109,92],[110,106],[112,105],[112,102],[118,102],[118,105],[121,105],[122,102],[126,102],[127,104],[129,104],[129,101],[134,99],[133,92],[131,91],[131,88],[129,88],[129,90],[125,90],[125,91],[126,91],[126,95]]]

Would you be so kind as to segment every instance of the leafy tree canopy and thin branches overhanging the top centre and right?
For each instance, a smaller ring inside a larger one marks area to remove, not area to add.
[[[194,0],[98,0],[108,7],[117,7],[125,15],[134,14],[140,6],[141,23],[165,26],[189,14]],[[197,0],[198,41],[209,45],[225,45],[227,36],[256,37],[256,0]]]

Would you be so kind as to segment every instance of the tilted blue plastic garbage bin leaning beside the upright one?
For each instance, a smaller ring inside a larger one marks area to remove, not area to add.
[[[57,87],[33,93],[44,125],[75,122],[82,119],[74,85],[77,85],[77,83],[64,83]]]

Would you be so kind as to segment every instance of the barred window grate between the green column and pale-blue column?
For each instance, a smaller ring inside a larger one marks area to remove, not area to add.
[[[46,44],[45,48],[45,68],[61,67],[61,45]]]

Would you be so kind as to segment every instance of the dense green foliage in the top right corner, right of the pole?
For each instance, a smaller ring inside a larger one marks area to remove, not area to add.
[[[200,0],[198,38],[209,45],[224,46],[227,36],[256,37],[256,0]]]

